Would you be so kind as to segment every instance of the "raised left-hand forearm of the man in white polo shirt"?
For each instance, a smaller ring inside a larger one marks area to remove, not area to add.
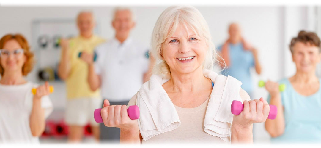
[[[88,78],[87,81],[89,83],[90,89],[92,91],[97,90],[100,88],[100,76],[95,73],[95,66],[94,64],[88,64]]]

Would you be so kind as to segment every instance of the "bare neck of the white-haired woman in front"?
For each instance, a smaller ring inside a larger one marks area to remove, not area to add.
[[[178,74],[171,72],[169,83],[173,92],[195,92],[204,90],[204,86],[211,80],[203,74],[203,68],[199,67],[190,74]]]

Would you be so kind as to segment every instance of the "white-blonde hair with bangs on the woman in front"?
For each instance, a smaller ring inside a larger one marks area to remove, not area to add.
[[[218,54],[211,41],[212,36],[203,15],[193,6],[171,6],[160,14],[152,32],[151,53],[156,60],[152,73],[166,78],[171,77],[169,65],[161,57],[161,46],[166,38],[173,35],[179,23],[183,23],[186,29],[187,26],[191,27],[198,36],[205,40],[209,48],[202,66],[203,69],[213,70],[214,62],[219,62],[216,60]]]

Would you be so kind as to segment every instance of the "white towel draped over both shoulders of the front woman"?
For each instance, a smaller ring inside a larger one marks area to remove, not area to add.
[[[231,103],[241,101],[241,82],[231,76],[218,75],[204,69],[203,74],[214,82],[204,119],[204,131],[230,142],[233,114]],[[178,113],[162,85],[169,79],[153,74],[138,91],[136,105],[140,110],[138,121],[143,140],[174,130],[180,125]]]

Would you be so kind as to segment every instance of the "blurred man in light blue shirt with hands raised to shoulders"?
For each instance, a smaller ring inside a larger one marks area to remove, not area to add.
[[[256,73],[261,74],[257,50],[243,39],[241,29],[237,23],[230,24],[229,35],[230,37],[226,42],[218,47],[218,50],[221,51],[220,56],[224,59],[227,66],[221,73],[241,81],[241,88],[253,99],[250,68],[255,67]],[[224,62],[221,60],[221,67],[224,68],[224,66]]]

